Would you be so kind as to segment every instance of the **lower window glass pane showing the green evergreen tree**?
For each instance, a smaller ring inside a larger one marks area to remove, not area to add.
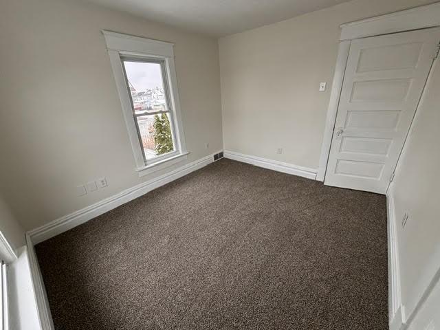
[[[136,117],[146,159],[175,151],[169,113]]]

